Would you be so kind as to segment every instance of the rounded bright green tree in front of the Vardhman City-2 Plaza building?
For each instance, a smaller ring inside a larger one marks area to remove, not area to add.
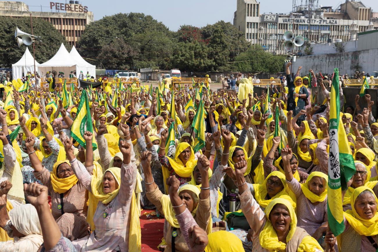
[[[260,45],[252,45],[235,58],[235,66],[242,72],[277,73],[282,71],[286,58],[284,55],[270,54]]]

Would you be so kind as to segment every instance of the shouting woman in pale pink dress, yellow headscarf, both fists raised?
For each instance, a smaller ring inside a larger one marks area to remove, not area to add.
[[[87,131],[85,135],[90,136],[85,141],[91,143],[91,134]],[[134,193],[136,167],[135,163],[131,162],[135,153],[132,150],[130,136],[127,139],[120,141],[119,145],[123,155],[121,169],[111,167],[105,170],[100,178],[91,176],[73,155],[70,144],[65,143],[67,157],[71,160],[77,179],[99,201],[93,216],[95,231],[72,242],[77,250],[141,251],[139,212]],[[91,148],[90,144],[87,146]]]

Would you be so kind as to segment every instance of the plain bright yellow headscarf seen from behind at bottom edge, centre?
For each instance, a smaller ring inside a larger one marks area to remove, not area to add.
[[[225,230],[208,235],[209,243],[205,252],[240,252],[244,251],[242,241],[233,233]],[[222,241],[222,242],[220,242]]]

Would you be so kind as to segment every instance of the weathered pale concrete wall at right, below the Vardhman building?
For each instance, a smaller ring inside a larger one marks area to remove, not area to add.
[[[352,74],[356,71],[356,66],[360,66],[360,71],[372,73],[378,70],[378,49],[363,51],[332,53],[322,55],[310,55],[297,57],[293,62],[292,71],[295,73],[298,66],[302,66],[301,73],[308,73],[312,69],[315,73],[333,73],[335,67],[339,68],[339,73]]]

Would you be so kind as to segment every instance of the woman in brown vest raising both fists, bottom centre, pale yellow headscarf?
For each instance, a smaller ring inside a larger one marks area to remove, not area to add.
[[[209,192],[209,166],[210,162],[206,156],[201,155],[198,158],[198,169],[201,173],[202,185],[200,189],[191,184],[180,187],[181,182],[175,177],[170,176],[167,183],[169,184],[169,195],[160,192],[155,184],[150,169],[151,153],[143,152],[141,154],[141,163],[145,175],[146,195],[147,198],[164,214],[167,225],[165,241],[167,247],[165,251],[188,251],[184,235],[181,233],[176,210],[189,211],[194,220],[206,233],[211,233],[212,221],[210,214],[210,192]],[[185,206],[186,207],[185,207]],[[181,207],[181,208],[180,208]],[[175,209],[175,210],[174,210]]]

